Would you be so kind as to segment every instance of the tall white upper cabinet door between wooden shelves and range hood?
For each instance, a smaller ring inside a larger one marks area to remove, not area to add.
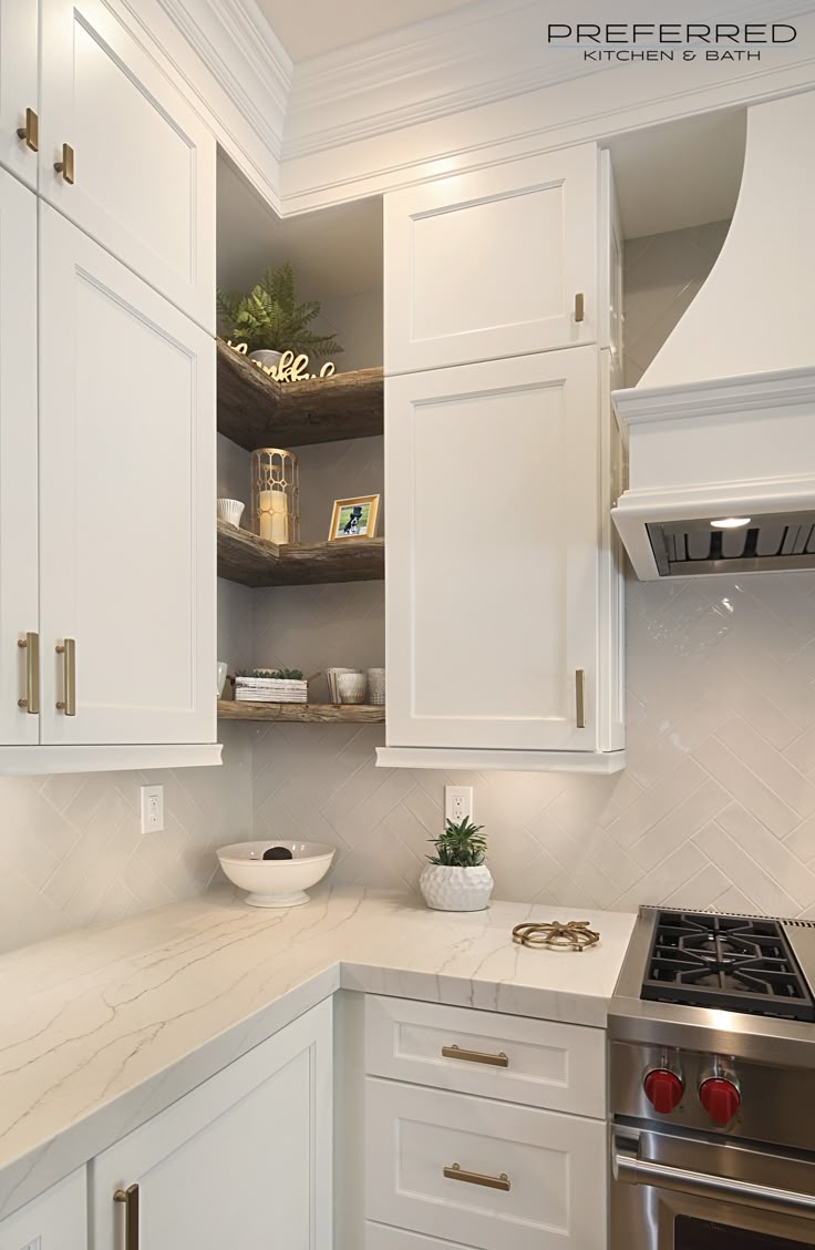
[[[389,746],[596,749],[598,429],[595,348],[386,380]]]

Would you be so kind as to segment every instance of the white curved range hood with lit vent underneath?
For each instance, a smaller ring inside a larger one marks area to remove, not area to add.
[[[639,578],[815,569],[815,92],[749,110],[719,259],[614,404]]]

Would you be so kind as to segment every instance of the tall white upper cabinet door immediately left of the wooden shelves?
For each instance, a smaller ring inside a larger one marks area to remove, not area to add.
[[[40,214],[41,740],[214,741],[215,341]]]

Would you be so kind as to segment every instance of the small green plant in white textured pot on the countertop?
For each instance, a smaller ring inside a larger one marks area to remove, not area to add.
[[[465,818],[448,820],[444,832],[430,841],[436,848],[419,878],[425,902],[435,911],[484,911],[490,905],[492,875],[484,862],[484,825]]]

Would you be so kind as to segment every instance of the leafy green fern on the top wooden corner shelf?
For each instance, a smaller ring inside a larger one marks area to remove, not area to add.
[[[342,350],[334,335],[310,329],[320,308],[318,300],[298,304],[289,261],[279,269],[265,269],[258,285],[245,295],[218,292],[224,334],[235,344],[245,342],[250,359],[268,369],[279,362],[284,351],[319,359]]]

